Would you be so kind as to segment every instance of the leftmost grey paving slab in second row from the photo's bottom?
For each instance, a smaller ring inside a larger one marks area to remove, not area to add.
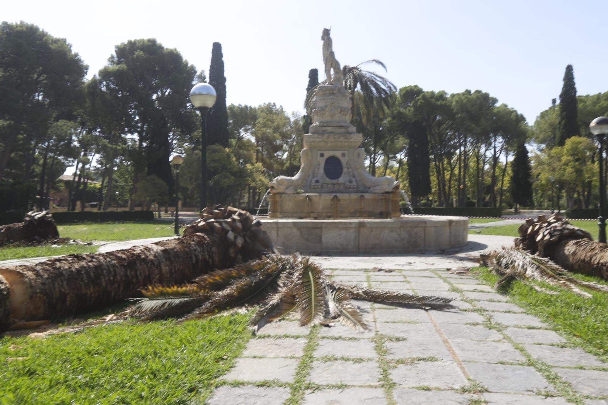
[[[284,383],[294,380],[297,359],[246,358],[237,359],[237,364],[224,376],[225,381],[266,381],[277,379]]]

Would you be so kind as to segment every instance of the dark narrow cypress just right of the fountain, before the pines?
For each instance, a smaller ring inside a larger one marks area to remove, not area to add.
[[[429,137],[423,123],[414,121],[407,129],[407,175],[414,204],[418,198],[430,194]]]

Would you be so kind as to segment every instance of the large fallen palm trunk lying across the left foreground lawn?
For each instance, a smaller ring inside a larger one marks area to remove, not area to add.
[[[254,223],[249,213],[232,207],[207,209],[206,218],[187,227],[184,234],[122,251],[0,268],[0,324],[103,308],[140,295],[140,289],[148,285],[190,282],[201,274],[274,252],[259,221]],[[2,298],[2,281],[9,284],[8,299]]]

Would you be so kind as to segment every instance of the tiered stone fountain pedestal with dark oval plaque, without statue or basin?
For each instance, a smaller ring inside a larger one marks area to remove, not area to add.
[[[398,218],[399,183],[365,167],[362,135],[350,124],[342,86],[322,85],[313,102],[311,133],[303,136],[300,171],[270,185],[271,218]]]

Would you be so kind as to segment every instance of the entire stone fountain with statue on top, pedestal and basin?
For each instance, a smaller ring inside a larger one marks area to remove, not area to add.
[[[401,253],[465,244],[467,218],[401,216],[399,182],[368,173],[328,29],[322,40],[327,80],[314,95],[300,171],[271,182],[264,229],[283,251],[307,254]]]

